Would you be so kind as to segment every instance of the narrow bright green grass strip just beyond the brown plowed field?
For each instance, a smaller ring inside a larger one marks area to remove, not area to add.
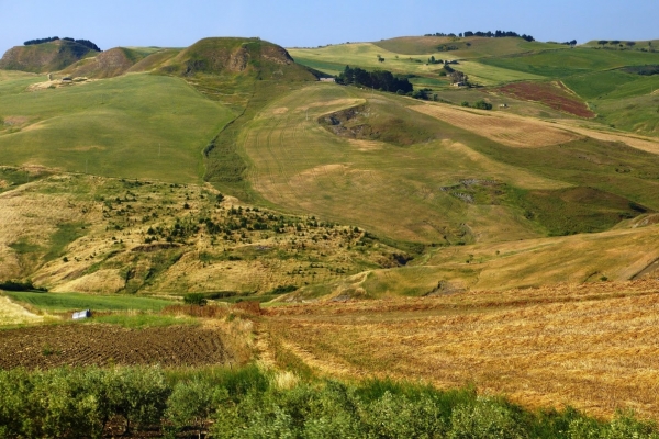
[[[40,311],[62,313],[68,311],[161,311],[176,302],[130,295],[91,295],[81,293],[4,292],[14,302]]]

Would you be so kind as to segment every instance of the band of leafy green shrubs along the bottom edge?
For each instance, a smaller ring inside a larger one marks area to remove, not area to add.
[[[600,421],[571,408],[528,412],[471,389],[213,368],[0,371],[1,437],[108,437],[159,430],[214,438],[658,438],[619,414]],[[188,436],[186,436],[188,437]]]

